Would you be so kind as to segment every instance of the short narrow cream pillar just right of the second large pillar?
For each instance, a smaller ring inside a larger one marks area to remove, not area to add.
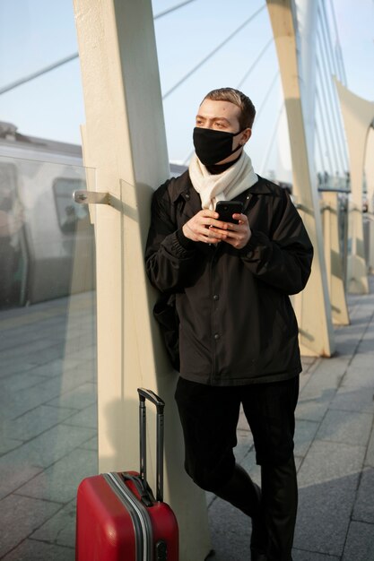
[[[344,290],[344,269],[339,242],[339,200],[335,192],[322,195],[322,221],[325,246],[325,263],[331,313],[334,324],[350,323]]]

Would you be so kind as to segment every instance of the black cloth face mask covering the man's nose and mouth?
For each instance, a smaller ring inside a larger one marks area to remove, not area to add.
[[[239,133],[225,133],[196,126],[194,128],[194,146],[197,158],[204,166],[213,166],[219,161],[226,160],[231,154],[242,148],[239,144],[235,150],[232,150],[232,139],[243,130]]]

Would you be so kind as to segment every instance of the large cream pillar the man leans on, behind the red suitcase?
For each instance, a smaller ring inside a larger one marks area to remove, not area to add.
[[[204,493],[185,475],[173,372],[152,321],[155,292],[144,274],[152,189],[169,177],[150,0],[74,0],[82,67],[86,166],[96,168],[99,469],[137,470],[136,388],[165,408],[165,499],[179,523],[180,559],[210,551]],[[92,210],[92,205],[91,205]],[[154,488],[154,419],[149,410],[148,472]]]

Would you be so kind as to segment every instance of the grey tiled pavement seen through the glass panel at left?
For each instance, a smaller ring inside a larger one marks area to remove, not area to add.
[[[97,470],[94,295],[0,313],[0,558],[73,561]]]

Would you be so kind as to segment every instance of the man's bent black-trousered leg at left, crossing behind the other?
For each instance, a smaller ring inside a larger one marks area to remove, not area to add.
[[[178,381],[178,403],[186,447],[186,470],[201,488],[212,491],[252,518],[252,561],[267,561],[261,490],[235,463],[240,388]]]

